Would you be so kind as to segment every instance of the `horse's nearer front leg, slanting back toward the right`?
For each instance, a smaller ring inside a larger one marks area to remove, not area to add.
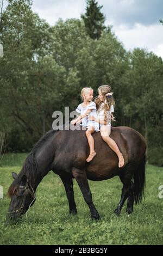
[[[77,168],[72,168],[72,175],[78,182],[80,190],[82,191],[85,202],[90,208],[92,219],[99,220],[100,216],[95,208],[95,205],[92,201],[92,194],[90,191],[89,183],[87,181],[87,176],[85,170],[80,170]]]

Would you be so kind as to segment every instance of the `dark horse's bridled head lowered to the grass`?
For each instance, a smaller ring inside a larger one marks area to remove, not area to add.
[[[18,218],[24,215],[35,202],[35,192],[28,183],[27,176],[21,178],[16,173],[12,173],[14,181],[9,187],[8,194],[11,197],[7,219],[16,223]]]

